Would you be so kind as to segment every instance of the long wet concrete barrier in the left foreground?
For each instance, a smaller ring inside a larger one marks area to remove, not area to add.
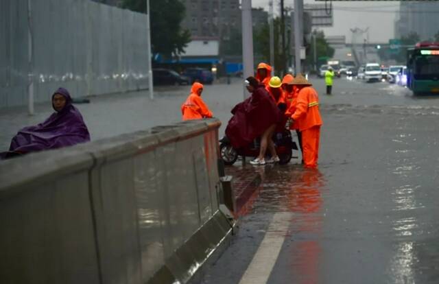
[[[232,232],[219,121],[0,163],[1,283],[186,283]]]

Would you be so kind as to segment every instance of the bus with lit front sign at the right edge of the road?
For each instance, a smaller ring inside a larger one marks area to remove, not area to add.
[[[407,50],[407,88],[414,95],[439,95],[439,43],[418,43]]]

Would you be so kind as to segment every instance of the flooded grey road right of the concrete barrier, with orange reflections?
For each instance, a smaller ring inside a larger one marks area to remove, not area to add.
[[[261,184],[201,283],[439,283],[439,97],[345,79],[327,97],[311,82],[318,170],[229,167]]]

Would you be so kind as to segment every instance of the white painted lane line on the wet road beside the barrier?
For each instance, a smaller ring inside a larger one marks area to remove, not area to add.
[[[239,284],[265,284],[274,268],[279,252],[287,235],[292,213],[279,212],[274,214],[252,262],[239,281]]]

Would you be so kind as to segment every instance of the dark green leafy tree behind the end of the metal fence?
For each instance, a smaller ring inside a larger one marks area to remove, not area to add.
[[[122,8],[145,13],[146,1],[123,0]],[[191,41],[189,30],[181,28],[185,5],[180,0],[153,0],[150,10],[152,52],[167,58],[182,54]]]

